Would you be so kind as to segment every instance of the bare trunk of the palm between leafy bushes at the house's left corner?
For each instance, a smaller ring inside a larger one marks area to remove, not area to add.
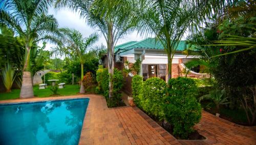
[[[109,71],[109,98],[113,96],[113,75],[114,75],[114,40],[113,40],[113,26],[109,24],[108,35],[108,71]]]

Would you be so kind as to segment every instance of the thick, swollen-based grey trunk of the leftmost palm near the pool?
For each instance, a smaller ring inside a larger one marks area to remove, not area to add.
[[[25,54],[26,61],[23,69],[22,88],[20,89],[19,98],[34,97],[32,78],[31,73],[29,72],[30,47],[28,44],[26,44],[26,52],[27,54]]]

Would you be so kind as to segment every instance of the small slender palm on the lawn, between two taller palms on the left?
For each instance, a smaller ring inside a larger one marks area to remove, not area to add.
[[[53,47],[52,52],[55,55],[66,55],[73,59],[79,59],[81,64],[80,93],[85,93],[83,86],[83,64],[91,58],[90,47],[98,40],[98,34],[93,33],[88,38],[83,38],[77,30],[66,29],[63,33],[66,37],[63,39],[63,46]],[[90,53],[90,54],[89,54]]]

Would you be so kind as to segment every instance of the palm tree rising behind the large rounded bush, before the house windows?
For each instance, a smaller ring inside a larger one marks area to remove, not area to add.
[[[155,34],[168,57],[168,79],[172,77],[172,60],[179,41],[188,28],[198,28],[203,20],[222,12],[229,1],[142,0],[137,5],[138,30]]]

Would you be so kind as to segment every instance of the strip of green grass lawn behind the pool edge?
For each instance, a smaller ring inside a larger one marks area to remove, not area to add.
[[[69,95],[76,95],[79,93],[80,86],[77,84],[67,84],[65,85],[66,88],[58,89],[59,96],[69,96]],[[51,97],[53,94],[50,90],[51,86],[48,86],[47,89],[39,90],[39,86],[33,86],[34,96],[36,97]],[[9,99],[17,99],[19,98],[19,89],[12,90],[10,93],[0,93],[0,100],[9,100]]]

